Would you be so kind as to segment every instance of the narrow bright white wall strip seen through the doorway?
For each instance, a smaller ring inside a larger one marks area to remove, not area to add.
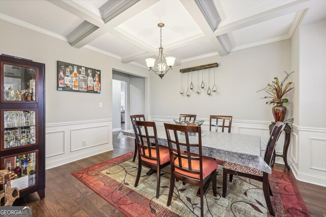
[[[121,130],[121,81],[112,80],[112,128]]]

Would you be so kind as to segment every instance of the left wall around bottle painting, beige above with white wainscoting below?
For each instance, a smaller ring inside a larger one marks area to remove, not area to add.
[[[145,78],[148,71],[3,20],[0,29],[0,53],[45,64],[46,168],[112,150],[112,70]],[[101,94],[58,91],[58,60],[100,69]]]

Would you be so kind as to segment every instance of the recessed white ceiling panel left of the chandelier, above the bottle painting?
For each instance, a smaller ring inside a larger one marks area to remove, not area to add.
[[[101,37],[92,41],[89,45],[118,56],[125,56],[141,50],[139,47],[134,46],[110,33],[102,35]]]

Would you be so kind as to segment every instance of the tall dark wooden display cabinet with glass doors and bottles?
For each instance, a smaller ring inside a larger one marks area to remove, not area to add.
[[[0,55],[0,169],[20,197],[45,197],[45,65]]]

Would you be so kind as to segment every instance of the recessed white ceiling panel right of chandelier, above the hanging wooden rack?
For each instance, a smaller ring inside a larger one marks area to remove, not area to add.
[[[170,55],[176,56],[180,59],[192,58],[213,52],[216,51],[207,39],[174,50],[169,50]]]

